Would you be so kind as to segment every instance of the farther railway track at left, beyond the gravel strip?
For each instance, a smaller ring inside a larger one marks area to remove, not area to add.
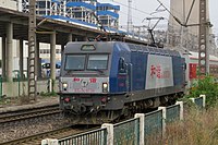
[[[0,124],[60,113],[58,105],[0,113]]]

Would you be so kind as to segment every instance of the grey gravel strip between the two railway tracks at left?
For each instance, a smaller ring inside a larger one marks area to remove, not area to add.
[[[0,143],[60,129],[69,124],[61,114],[0,125]]]

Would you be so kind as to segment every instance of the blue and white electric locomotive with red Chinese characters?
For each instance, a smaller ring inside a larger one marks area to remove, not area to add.
[[[180,52],[121,41],[69,43],[62,55],[60,107],[76,123],[111,122],[184,93]]]

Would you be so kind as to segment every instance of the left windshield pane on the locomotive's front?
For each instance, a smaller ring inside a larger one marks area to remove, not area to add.
[[[85,55],[68,55],[65,70],[84,70],[85,57]]]

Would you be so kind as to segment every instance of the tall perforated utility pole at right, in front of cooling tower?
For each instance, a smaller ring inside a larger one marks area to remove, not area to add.
[[[209,73],[207,0],[199,0],[198,68],[199,75]]]

